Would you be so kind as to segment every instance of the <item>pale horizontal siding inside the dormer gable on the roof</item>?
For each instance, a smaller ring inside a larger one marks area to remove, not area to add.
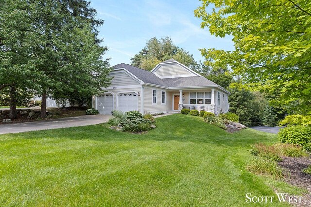
[[[193,76],[192,73],[190,73],[188,70],[183,68],[179,64],[165,64],[161,65],[156,71],[156,74],[158,74],[161,77],[175,77],[175,76],[180,76],[180,75],[189,75]]]

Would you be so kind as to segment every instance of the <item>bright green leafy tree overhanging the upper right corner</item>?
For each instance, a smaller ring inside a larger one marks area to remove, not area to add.
[[[207,65],[229,66],[243,82],[279,93],[275,104],[311,113],[311,1],[202,0],[195,16],[212,35],[233,36],[234,51],[201,50]]]

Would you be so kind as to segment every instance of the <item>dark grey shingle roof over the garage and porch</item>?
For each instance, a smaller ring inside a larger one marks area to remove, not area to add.
[[[171,59],[170,59],[171,60]],[[168,60],[169,61],[169,60]],[[171,62],[171,61],[170,61]],[[145,83],[160,85],[164,87],[206,87],[206,86],[218,86],[216,83],[208,80],[203,76],[190,76],[190,77],[178,77],[178,78],[166,78],[161,79],[150,71],[134,67],[129,64],[121,63],[113,66],[113,69],[125,68],[138,79]]]

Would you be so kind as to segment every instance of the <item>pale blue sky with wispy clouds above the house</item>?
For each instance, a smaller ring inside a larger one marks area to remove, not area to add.
[[[193,54],[196,61],[204,60],[200,48],[232,50],[230,37],[216,38],[208,29],[201,29],[201,20],[194,17],[198,0],[90,0],[104,19],[100,28],[103,45],[109,51],[110,65],[130,64],[146,40],[169,36],[173,43]]]

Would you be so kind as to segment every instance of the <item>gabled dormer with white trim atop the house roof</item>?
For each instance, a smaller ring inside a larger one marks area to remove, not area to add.
[[[201,76],[200,74],[194,72],[189,67],[179,63],[173,58],[159,63],[155,66],[154,69],[152,69],[151,72],[161,79]]]

